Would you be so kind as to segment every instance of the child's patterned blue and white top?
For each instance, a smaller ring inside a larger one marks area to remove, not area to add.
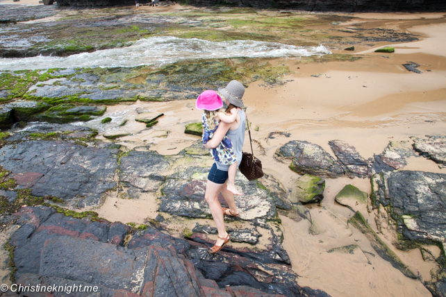
[[[201,126],[203,126],[203,144],[206,144],[206,142],[208,142],[214,136],[215,130],[217,130],[218,125],[220,124],[216,119],[214,119],[214,121],[215,128],[211,130],[206,123],[206,113],[203,112],[201,115]],[[224,135],[222,142],[220,142],[216,148],[209,149],[209,151],[212,158],[221,164],[231,165],[237,162],[236,153],[234,152],[231,139],[229,139],[229,137],[226,135]]]

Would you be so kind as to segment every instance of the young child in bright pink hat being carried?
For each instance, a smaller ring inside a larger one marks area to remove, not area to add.
[[[231,114],[225,114],[220,111],[223,107],[223,101],[215,91],[204,91],[197,98],[197,108],[204,110],[201,115],[201,125],[203,126],[203,144],[211,139],[217,130],[220,121],[231,124],[237,119],[237,108],[231,109]],[[226,135],[223,137],[222,142],[218,144],[216,148],[210,149],[210,153],[213,159],[222,164],[229,166],[228,170],[228,190],[234,195],[242,195],[236,189],[236,172],[237,172],[237,157],[234,153],[231,139]]]

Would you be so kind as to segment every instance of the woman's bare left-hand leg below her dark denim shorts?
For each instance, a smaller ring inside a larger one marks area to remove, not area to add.
[[[218,202],[218,194],[224,190],[226,190],[226,183],[216,184],[208,180],[208,183],[206,183],[206,193],[204,194],[204,198],[209,205],[210,214],[212,214],[215,221],[215,226],[217,226],[218,235],[220,237],[226,237],[228,234],[224,228],[222,205],[220,205],[220,202]],[[222,239],[217,238],[215,245],[221,246],[223,242],[224,241]]]

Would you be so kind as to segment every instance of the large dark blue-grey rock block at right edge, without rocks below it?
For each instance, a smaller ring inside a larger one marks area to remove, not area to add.
[[[397,231],[408,241],[446,242],[446,174],[394,171],[383,176],[383,187],[372,184],[374,197],[387,206]]]

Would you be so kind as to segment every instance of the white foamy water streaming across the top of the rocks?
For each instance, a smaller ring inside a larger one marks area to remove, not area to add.
[[[331,53],[331,51],[322,45],[310,47],[253,40],[210,42],[196,38],[149,37],[138,40],[131,46],[119,49],[104,49],[68,57],[1,58],[0,70],[135,67],[139,65],[163,65],[184,59],[295,58],[328,53]]]

